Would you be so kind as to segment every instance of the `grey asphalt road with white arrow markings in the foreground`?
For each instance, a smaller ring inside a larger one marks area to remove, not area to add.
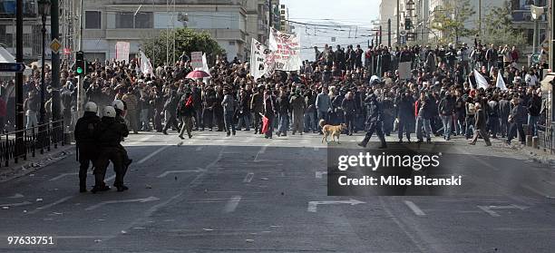
[[[231,138],[220,132],[195,134],[185,141],[175,132],[131,136],[125,144],[134,162],[125,192],[79,193],[74,155],[1,184],[0,251],[555,248],[555,170],[510,149],[449,143],[468,157],[458,170],[474,184],[491,184],[491,196],[328,197],[326,145],[315,134],[273,140],[241,131]],[[360,137],[342,140],[341,146],[355,148]],[[110,182],[112,173],[109,169]],[[498,180],[507,174],[511,177]],[[516,194],[493,190],[500,188]],[[10,246],[10,236],[52,236],[54,245]]]

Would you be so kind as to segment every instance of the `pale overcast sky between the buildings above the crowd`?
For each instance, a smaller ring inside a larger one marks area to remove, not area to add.
[[[387,0],[385,0],[387,1]],[[389,0],[391,1],[391,0]],[[314,60],[313,46],[321,48],[324,44],[361,44],[366,48],[372,32],[372,21],[379,15],[380,0],[280,0],[287,5],[289,20],[308,24],[341,24],[350,27],[326,28],[294,24],[300,36],[301,58]],[[332,37],[335,42],[332,42]]]

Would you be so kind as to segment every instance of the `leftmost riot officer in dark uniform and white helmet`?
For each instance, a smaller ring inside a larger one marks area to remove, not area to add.
[[[89,163],[97,159],[97,143],[94,133],[101,122],[96,115],[98,107],[94,102],[87,102],[84,107],[84,114],[75,124],[75,142],[77,146],[77,157],[79,166],[79,191],[87,191],[87,170]]]

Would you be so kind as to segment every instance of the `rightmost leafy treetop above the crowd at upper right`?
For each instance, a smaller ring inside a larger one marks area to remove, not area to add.
[[[501,6],[493,7],[485,16],[485,44],[510,44],[521,48],[526,44],[522,30],[512,23],[511,3],[506,1]]]

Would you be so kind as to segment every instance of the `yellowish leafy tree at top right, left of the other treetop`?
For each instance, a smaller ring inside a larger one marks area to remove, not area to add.
[[[475,13],[470,0],[449,1],[443,5],[443,9],[435,11],[432,28],[442,34],[441,43],[458,44],[459,38],[475,34],[474,29],[467,28],[465,25]]]

